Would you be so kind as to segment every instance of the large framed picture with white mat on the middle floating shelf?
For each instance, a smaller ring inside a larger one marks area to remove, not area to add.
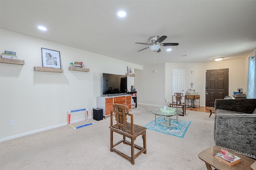
[[[61,68],[60,65],[60,51],[44,49],[42,50],[43,67]]]

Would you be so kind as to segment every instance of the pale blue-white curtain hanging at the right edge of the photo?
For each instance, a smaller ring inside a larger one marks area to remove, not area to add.
[[[256,55],[255,55],[256,56]],[[256,57],[249,57],[248,66],[248,83],[247,83],[247,95],[248,99],[256,99]]]

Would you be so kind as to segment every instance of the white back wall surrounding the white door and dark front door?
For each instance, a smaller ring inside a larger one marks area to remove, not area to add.
[[[256,50],[252,51],[249,56],[254,56],[255,51]],[[246,57],[246,59],[213,61],[210,63],[165,63],[143,66],[143,70],[135,70],[135,85],[138,91],[138,102],[140,104],[155,106],[163,106],[163,98],[166,98],[167,102],[170,102],[172,100],[172,69],[185,70],[185,91],[191,88],[190,84],[193,82],[194,85],[192,89],[198,91],[200,94],[200,106],[205,106],[205,70],[229,68],[229,95],[232,96],[233,91],[236,92],[237,88],[243,88],[244,93],[246,93],[248,57]],[[154,70],[157,69],[160,70],[161,74],[154,73]],[[193,70],[192,74],[190,72],[191,70]],[[164,86],[162,86],[162,82],[165,82]],[[165,90],[163,90],[163,88]],[[139,95],[142,97],[139,97]]]

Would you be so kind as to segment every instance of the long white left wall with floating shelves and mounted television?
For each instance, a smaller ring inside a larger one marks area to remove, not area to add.
[[[0,53],[15,51],[25,65],[0,63],[0,141],[67,124],[74,109],[97,107],[102,72],[125,74],[127,66],[142,66],[65,45],[0,29]],[[60,51],[63,73],[34,71],[42,66],[41,48]],[[70,71],[83,61],[90,72]],[[128,88],[134,77],[128,77]],[[15,125],[9,127],[9,121]]]

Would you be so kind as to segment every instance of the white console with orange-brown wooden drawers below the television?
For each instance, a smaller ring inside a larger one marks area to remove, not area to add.
[[[103,109],[103,116],[110,116],[110,110],[113,108],[113,104],[124,104],[128,106],[129,111],[132,110],[132,95],[122,95],[122,96],[98,96],[97,97],[97,107]]]

